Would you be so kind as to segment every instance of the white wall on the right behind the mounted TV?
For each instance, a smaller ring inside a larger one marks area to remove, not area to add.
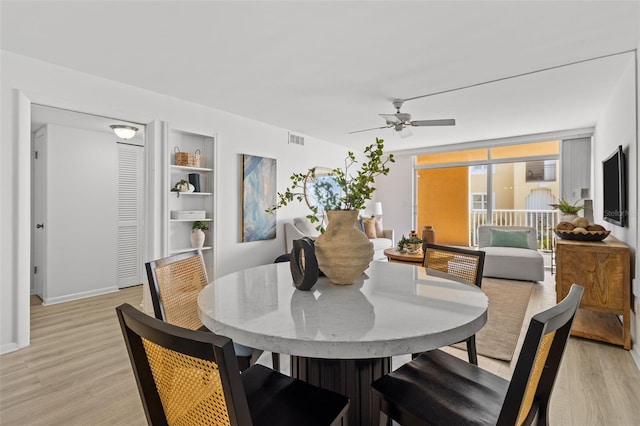
[[[636,69],[635,58],[631,60],[623,74],[609,104],[598,120],[594,134],[593,167],[595,196],[593,200],[594,218],[602,223],[611,234],[631,248],[631,278],[638,277],[638,111],[636,111],[636,78],[640,78]],[[628,223],[625,227],[602,222],[602,160],[611,155],[618,145],[622,145],[627,159],[627,183],[629,210]],[[635,261],[635,262],[634,262]],[[635,314],[631,317],[631,338],[633,354],[640,366],[640,315],[637,311],[638,296],[634,298]],[[632,307],[634,306],[632,304]]]

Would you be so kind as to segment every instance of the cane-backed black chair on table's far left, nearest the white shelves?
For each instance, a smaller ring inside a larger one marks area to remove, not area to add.
[[[145,264],[157,319],[190,330],[209,331],[198,316],[198,294],[208,284],[200,250],[178,253]],[[241,370],[255,364],[262,351],[234,343]]]

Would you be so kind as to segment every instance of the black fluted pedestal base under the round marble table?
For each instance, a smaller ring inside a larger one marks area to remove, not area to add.
[[[349,425],[380,424],[380,401],[371,382],[391,371],[391,358],[320,359],[291,356],[291,376],[350,399]]]

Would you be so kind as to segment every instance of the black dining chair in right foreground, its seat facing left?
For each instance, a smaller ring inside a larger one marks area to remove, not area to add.
[[[373,382],[383,421],[402,425],[549,424],[549,399],[584,288],[572,285],[529,324],[511,380],[442,350],[425,352]]]

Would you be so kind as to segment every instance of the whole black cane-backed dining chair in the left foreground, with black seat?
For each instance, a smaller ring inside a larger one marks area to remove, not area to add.
[[[116,308],[150,425],[342,425],[349,399],[262,365],[240,373],[231,339]]]

